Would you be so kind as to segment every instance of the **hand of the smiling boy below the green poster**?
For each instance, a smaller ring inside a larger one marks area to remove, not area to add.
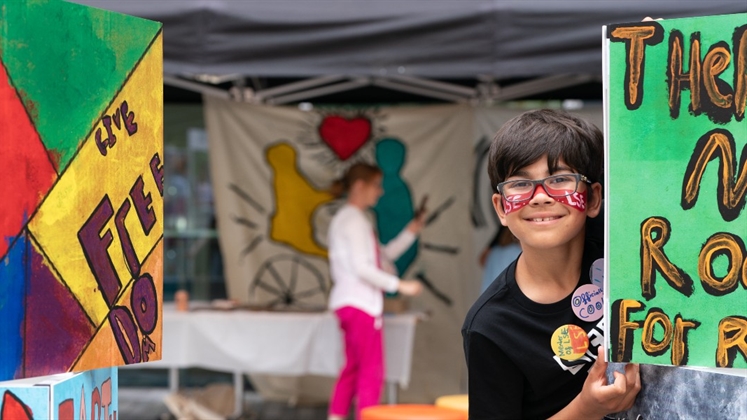
[[[597,361],[589,369],[589,376],[579,394],[580,402],[593,413],[602,417],[610,413],[625,411],[633,406],[641,390],[641,375],[638,364],[625,365],[625,374],[614,372],[615,382],[607,383],[607,362],[603,358],[602,346],[597,351]]]

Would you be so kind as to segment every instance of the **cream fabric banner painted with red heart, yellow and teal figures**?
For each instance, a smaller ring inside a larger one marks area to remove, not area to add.
[[[461,324],[476,297],[470,206],[474,110],[466,105],[300,111],[205,97],[210,164],[229,298],[318,310],[330,287],[326,230],[342,203],[327,189],[357,161],[384,172],[372,212],[383,242],[428,197],[420,240],[396,262],[420,276],[411,384],[402,401],[465,391]]]

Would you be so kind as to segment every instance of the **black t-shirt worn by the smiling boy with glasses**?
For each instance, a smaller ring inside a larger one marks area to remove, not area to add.
[[[602,256],[587,240],[578,286],[591,283],[591,264]],[[585,322],[576,317],[572,294],[552,304],[530,300],[515,273],[516,261],[478,298],[462,327],[470,420],[552,416],[581,392],[604,342],[604,318]],[[586,355],[572,362],[555,356],[551,347],[553,333],[566,324],[583,328],[589,337]]]

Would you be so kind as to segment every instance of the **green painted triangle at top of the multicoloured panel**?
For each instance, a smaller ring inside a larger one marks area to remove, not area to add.
[[[58,172],[160,29],[59,0],[0,0],[0,56]]]

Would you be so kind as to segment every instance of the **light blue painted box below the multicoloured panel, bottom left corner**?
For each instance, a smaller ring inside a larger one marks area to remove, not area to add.
[[[116,419],[117,377],[105,368],[0,382],[0,420]]]

